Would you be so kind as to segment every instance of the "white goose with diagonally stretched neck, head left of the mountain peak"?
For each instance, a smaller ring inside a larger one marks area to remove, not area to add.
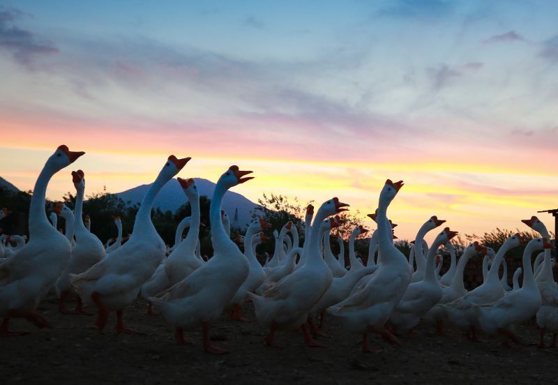
[[[149,280],[165,257],[165,242],[153,227],[151,207],[160,189],[188,160],[190,158],[169,156],[142,200],[129,241],[84,273],[70,275],[82,300],[96,306],[98,318],[95,324],[98,329],[103,329],[107,324],[109,310],[116,310],[116,331],[135,333],[124,327],[123,310],[136,299],[144,282]]]

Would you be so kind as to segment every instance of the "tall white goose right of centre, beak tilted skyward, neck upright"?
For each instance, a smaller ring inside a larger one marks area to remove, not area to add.
[[[398,343],[384,325],[405,293],[411,273],[407,258],[393,246],[386,211],[401,186],[402,181],[393,183],[388,179],[379,195],[379,269],[363,288],[328,310],[332,315],[340,317],[351,331],[363,334],[363,352],[370,352],[368,333],[378,333],[384,339]]]

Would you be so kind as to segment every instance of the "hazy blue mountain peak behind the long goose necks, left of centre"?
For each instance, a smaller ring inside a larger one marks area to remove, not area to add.
[[[202,178],[194,179],[199,190],[199,195],[206,195],[206,197],[211,199],[213,190],[215,189],[215,183]],[[116,195],[123,199],[124,202],[130,201],[132,204],[140,203],[142,199],[144,199],[150,186],[151,184],[137,186],[135,188],[130,188],[130,190],[116,193]],[[155,202],[153,202],[153,208],[158,207],[163,211],[170,210],[174,212],[185,204],[187,200],[180,184],[176,181],[169,181],[157,195]],[[242,228],[250,223],[252,220],[252,211],[254,211],[257,206],[257,204],[243,197],[243,195],[232,191],[227,191],[223,198],[223,210],[227,212],[231,222],[234,220],[234,211],[239,209],[239,226]]]

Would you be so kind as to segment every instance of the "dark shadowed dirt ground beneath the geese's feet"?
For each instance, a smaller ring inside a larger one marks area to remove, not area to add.
[[[373,336],[372,354],[361,353],[360,336],[326,319],[331,339],[319,341],[329,349],[303,345],[300,333],[278,332],[284,349],[266,347],[266,329],[257,324],[251,304],[244,315],[252,322],[222,317],[213,325],[214,345],[229,350],[213,356],[202,350],[201,331],[185,333],[194,345],[179,346],[172,329],[158,316],[145,315],[138,300],[124,312],[126,326],[140,335],[119,335],[112,329],[93,329],[94,317],[61,315],[56,300],[47,299],[39,311],[53,329],[38,330],[21,319],[10,327],[29,335],[0,339],[2,384],[411,384],[451,382],[516,384],[556,381],[558,349],[537,349],[538,331],[522,326],[519,335],[528,347],[505,349],[496,340],[472,343],[458,333],[441,337],[426,326],[418,338],[400,338],[401,347],[386,345]],[[550,339],[550,336],[549,336]]]

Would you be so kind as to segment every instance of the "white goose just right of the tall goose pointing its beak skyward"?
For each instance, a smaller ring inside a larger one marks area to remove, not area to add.
[[[447,243],[457,234],[446,227],[430,246],[423,280],[413,282],[407,287],[407,291],[389,317],[391,326],[396,330],[412,333],[412,329],[418,325],[421,317],[442,299],[442,288],[434,270],[434,258],[439,246]]]

